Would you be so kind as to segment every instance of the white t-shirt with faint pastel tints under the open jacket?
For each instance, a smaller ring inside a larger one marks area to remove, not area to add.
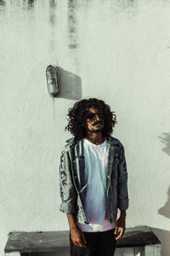
[[[83,202],[89,224],[78,223],[84,232],[98,232],[115,228],[116,221],[110,223],[106,217],[106,175],[108,164],[108,143],[96,145],[83,139],[85,159],[85,180],[88,184]]]

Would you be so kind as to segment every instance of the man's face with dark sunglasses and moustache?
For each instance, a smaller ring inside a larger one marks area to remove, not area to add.
[[[86,130],[92,132],[102,131],[104,128],[104,115],[97,108],[88,108],[88,118],[85,125]]]

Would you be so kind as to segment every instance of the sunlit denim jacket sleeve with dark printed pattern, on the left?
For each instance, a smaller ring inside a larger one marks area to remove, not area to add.
[[[68,149],[61,152],[59,165],[59,188],[61,205],[59,211],[75,213],[76,190],[71,177],[71,159]]]

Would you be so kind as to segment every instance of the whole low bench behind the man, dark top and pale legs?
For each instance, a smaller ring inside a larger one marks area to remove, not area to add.
[[[69,231],[10,232],[5,256],[69,255]],[[127,228],[115,256],[160,256],[161,242],[151,228]]]

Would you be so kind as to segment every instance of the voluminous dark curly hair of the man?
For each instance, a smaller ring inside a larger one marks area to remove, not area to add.
[[[96,98],[83,99],[80,102],[76,102],[73,108],[69,108],[69,123],[65,127],[65,131],[70,131],[77,140],[86,137],[84,125],[87,122],[88,108],[97,108],[99,112],[103,113],[105,125],[102,134],[104,137],[109,137],[117,123],[116,114],[114,111],[111,111],[109,105]]]

